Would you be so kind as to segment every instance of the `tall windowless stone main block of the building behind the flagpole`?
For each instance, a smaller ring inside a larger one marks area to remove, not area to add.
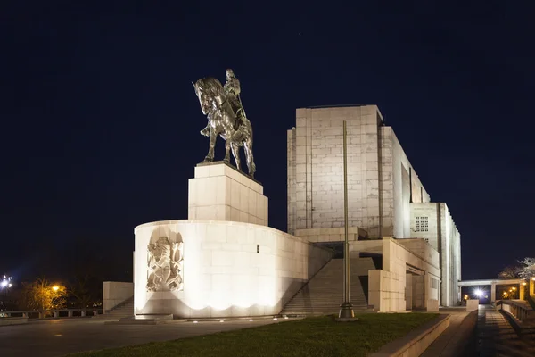
[[[410,237],[408,203],[429,195],[375,105],[297,110],[287,136],[288,231],[343,227],[343,120],[349,226],[369,237]]]

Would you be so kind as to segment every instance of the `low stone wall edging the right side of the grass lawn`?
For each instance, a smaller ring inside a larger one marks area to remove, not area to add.
[[[440,315],[409,332],[407,336],[383,345],[377,353],[372,353],[369,357],[417,357],[448,327],[449,315]]]

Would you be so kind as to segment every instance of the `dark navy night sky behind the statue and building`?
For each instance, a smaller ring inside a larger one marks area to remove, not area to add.
[[[70,278],[96,263],[131,278],[136,225],[187,218],[208,149],[191,81],[226,68],[271,227],[286,229],[295,109],[377,104],[432,201],[449,205],[463,278],[535,256],[533,1],[9,3],[0,272]]]

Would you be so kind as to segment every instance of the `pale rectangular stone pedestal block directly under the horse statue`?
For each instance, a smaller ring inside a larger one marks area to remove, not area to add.
[[[268,226],[268,197],[258,181],[229,164],[198,164],[189,179],[187,218]]]

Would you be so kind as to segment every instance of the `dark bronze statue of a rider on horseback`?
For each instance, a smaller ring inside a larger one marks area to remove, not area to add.
[[[249,175],[254,177],[256,166],[252,155],[252,127],[243,110],[240,99],[240,81],[235,78],[234,71],[226,70],[226,84],[221,85],[218,79],[203,78],[193,83],[195,95],[199,98],[201,111],[208,118],[208,125],[201,134],[210,137],[208,154],[203,162],[214,160],[216,139],[221,136],[225,140],[224,162],[230,163],[230,150],[235,158],[236,168],[240,168],[240,147],[245,150],[245,158]]]

